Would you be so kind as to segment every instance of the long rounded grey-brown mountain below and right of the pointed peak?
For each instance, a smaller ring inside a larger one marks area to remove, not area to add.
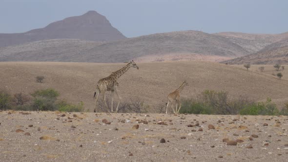
[[[58,44],[57,41],[61,43]],[[74,46],[73,43],[77,45]],[[75,40],[48,40],[2,47],[0,61],[223,61],[249,54],[246,49],[223,36],[192,30],[151,34],[119,41],[85,43]],[[76,47],[80,44],[82,48]]]

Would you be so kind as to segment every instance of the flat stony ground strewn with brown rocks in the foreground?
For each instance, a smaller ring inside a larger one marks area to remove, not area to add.
[[[288,159],[287,116],[0,112],[1,162]]]

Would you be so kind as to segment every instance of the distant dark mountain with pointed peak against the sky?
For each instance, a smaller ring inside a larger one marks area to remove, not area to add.
[[[125,38],[103,15],[88,11],[81,16],[52,22],[44,28],[25,33],[0,34],[0,47],[51,39],[114,41]]]

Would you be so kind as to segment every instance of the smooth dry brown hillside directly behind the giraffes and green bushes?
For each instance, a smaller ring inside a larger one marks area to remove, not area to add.
[[[73,103],[83,101],[93,109],[93,94],[99,79],[123,67],[125,63],[0,62],[0,88],[12,94],[29,94],[37,89],[55,88],[60,98]],[[153,107],[166,102],[166,95],[186,80],[182,98],[195,97],[205,89],[226,90],[231,97],[272,98],[283,106],[288,101],[288,81],[225,64],[211,62],[138,63],[119,80],[123,100],[139,97]],[[43,83],[36,76],[45,77]],[[110,94],[110,93],[109,93]],[[116,100],[117,101],[117,100]]]

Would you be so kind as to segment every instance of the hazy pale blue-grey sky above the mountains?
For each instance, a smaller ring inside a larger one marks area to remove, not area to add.
[[[26,32],[89,10],[126,37],[180,30],[288,31],[288,0],[0,0],[0,33]]]

